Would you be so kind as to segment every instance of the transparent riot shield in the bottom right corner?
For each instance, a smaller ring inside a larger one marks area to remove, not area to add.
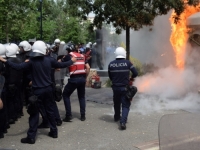
[[[164,115],[159,122],[160,150],[197,150],[200,147],[200,115]]]

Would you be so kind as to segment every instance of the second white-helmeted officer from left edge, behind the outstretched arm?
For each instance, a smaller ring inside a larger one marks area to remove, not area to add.
[[[6,46],[7,60],[14,63],[21,63],[16,54],[18,46],[14,43]],[[22,72],[5,65],[5,89],[6,89],[6,102],[8,108],[8,122],[14,124],[18,119],[18,114],[21,111],[20,87],[22,81]]]

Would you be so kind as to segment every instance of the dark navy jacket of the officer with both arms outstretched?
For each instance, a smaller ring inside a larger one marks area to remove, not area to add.
[[[73,64],[72,60],[67,62],[57,62],[54,58],[48,55],[32,57],[28,62],[23,62],[21,64],[16,64],[10,61],[7,61],[6,63],[17,70],[30,68],[32,87],[35,88],[42,88],[52,85],[52,68],[65,68]]]

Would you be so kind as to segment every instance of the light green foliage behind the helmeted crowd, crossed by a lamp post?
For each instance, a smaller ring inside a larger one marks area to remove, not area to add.
[[[42,0],[43,40],[88,42],[93,35],[89,23],[69,13],[66,0]],[[72,11],[73,9],[70,9]],[[40,39],[39,0],[0,0],[0,43]],[[87,38],[87,36],[89,38]]]

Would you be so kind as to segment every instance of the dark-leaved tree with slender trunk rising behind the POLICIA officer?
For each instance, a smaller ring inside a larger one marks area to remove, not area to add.
[[[90,12],[95,13],[95,26],[101,28],[103,23],[112,23],[116,33],[126,30],[127,59],[130,55],[130,29],[139,30],[143,26],[153,25],[153,20],[158,15],[165,15],[171,9],[175,10],[175,22],[186,5],[199,4],[199,0],[68,0],[74,15],[85,19]],[[75,6],[74,6],[75,5]]]

